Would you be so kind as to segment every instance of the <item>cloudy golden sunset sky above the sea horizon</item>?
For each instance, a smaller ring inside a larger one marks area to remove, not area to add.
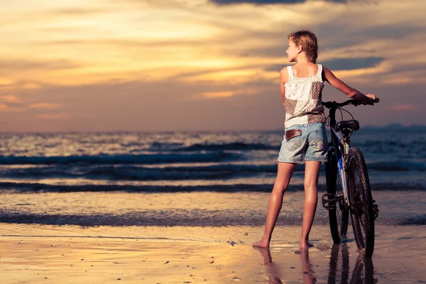
[[[425,124],[426,1],[0,0],[0,132],[283,129],[287,35],[375,106]],[[293,64],[293,63],[292,63]],[[323,101],[346,96],[326,83]]]

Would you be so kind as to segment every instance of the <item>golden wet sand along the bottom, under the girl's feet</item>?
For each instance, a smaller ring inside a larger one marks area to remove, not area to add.
[[[371,260],[349,233],[332,246],[315,225],[308,253],[300,226],[58,226],[0,223],[1,283],[425,283],[426,226],[376,227]],[[353,282],[351,282],[353,281]],[[364,281],[364,282],[362,282]]]

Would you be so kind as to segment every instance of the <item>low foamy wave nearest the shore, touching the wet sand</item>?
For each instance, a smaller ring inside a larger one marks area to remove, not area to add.
[[[320,213],[320,212],[319,212]],[[18,224],[52,224],[80,226],[263,226],[265,213],[256,210],[173,209],[144,210],[126,214],[38,214],[0,210],[0,222]],[[302,223],[299,213],[278,217],[277,225]],[[329,224],[326,212],[317,214],[315,224]],[[426,214],[380,217],[375,224],[426,225]]]

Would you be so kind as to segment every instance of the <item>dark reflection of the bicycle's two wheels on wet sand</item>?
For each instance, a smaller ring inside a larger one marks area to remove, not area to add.
[[[342,272],[340,278],[337,278],[339,268],[339,255],[342,258]],[[329,277],[327,284],[344,283],[344,284],[373,284],[376,283],[374,279],[374,267],[371,258],[364,258],[358,256],[352,271],[351,279],[349,280],[349,251],[346,244],[334,244],[332,247],[332,255],[330,256],[329,263]]]

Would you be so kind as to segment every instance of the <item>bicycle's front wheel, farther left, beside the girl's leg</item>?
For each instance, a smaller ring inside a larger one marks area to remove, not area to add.
[[[329,151],[326,165],[327,193],[334,194],[339,202],[336,209],[329,209],[330,231],[334,244],[340,244],[346,239],[349,223],[349,208],[346,208],[343,199],[342,183],[337,170],[337,160],[334,151]]]

